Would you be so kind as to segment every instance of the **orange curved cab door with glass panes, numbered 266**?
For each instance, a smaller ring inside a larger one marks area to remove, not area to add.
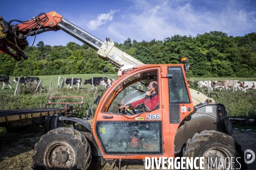
[[[158,82],[157,109],[122,113],[119,105],[143,99],[149,82]],[[93,134],[105,159],[145,159],[163,155],[160,67],[141,68],[113,84],[96,111]]]

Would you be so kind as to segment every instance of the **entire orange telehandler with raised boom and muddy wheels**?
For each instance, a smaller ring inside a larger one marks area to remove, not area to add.
[[[102,42],[54,11],[20,25],[11,25],[12,21],[7,23],[0,17],[0,50],[15,59],[26,59],[26,37],[61,29],[119,67],[119,79],[95,100],[98,107],[93,125],[87,118],[59,117],[60,121],[79,124],[56,128],[42,136],[35,144],[34,169],[88,169],[92,156],[100,156],[102,164],[145,157],[204,157],[204,169],[218,169],[215,161],[220,160],[225,167],[230,165],[229,169],[246,169],[241,146],[231,137],[233,130],[225,106],[188,87],[186,57],[183,64],[143,64],[114,47],[110,39]],[[151,81],[158,82],[158,109],[119,109],[119,105],[144,98],[143,89]],[[142,90],[136,88],[138,84]],[[199,166],[199,159],[195,164]]]

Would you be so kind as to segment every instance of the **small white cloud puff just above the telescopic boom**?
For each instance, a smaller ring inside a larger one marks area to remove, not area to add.
[[[108,21],[113,20],[113,15],[116,13],[116,10],[111,10],[108,14],[99,14],[97,15],[96,20],[90,20],[88,23],[88,28],[95,30],[98,26],[106,24]]]

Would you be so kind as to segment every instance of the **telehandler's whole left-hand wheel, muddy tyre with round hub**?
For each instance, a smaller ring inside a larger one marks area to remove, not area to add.
[[[32,168],[35,170],[87,170],[91,161],[87,139],[68,127],[50,130],[35,144]]]

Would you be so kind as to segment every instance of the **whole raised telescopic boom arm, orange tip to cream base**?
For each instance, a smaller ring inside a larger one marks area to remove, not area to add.
[[[13,21],[18,20],[11,20],[7,23],[0,17],[0,51],[9,54],[15,59],[19,59],[20,56],[24,59],[27,58],[23,52],[26,46],[29,45],[26,41],[26,37],[36,36],[37,34],[46,31],[58,31],[61,29],[95,49],[100,58],[107,60],[113,65],[119,67],[121,65],[143,64],[129,54],[114,47],[114,42],[109,38],[106,38],[105,42],[103,42],[78,26],[65,20],[55,11],[51,11],[47,14],[41,13],[37,17],[33,17],[26,22],[18,21],[21,23],[19,25],[11,25]],[[13,54],[9,51],[8,47],[12,48],[17,53]]]

